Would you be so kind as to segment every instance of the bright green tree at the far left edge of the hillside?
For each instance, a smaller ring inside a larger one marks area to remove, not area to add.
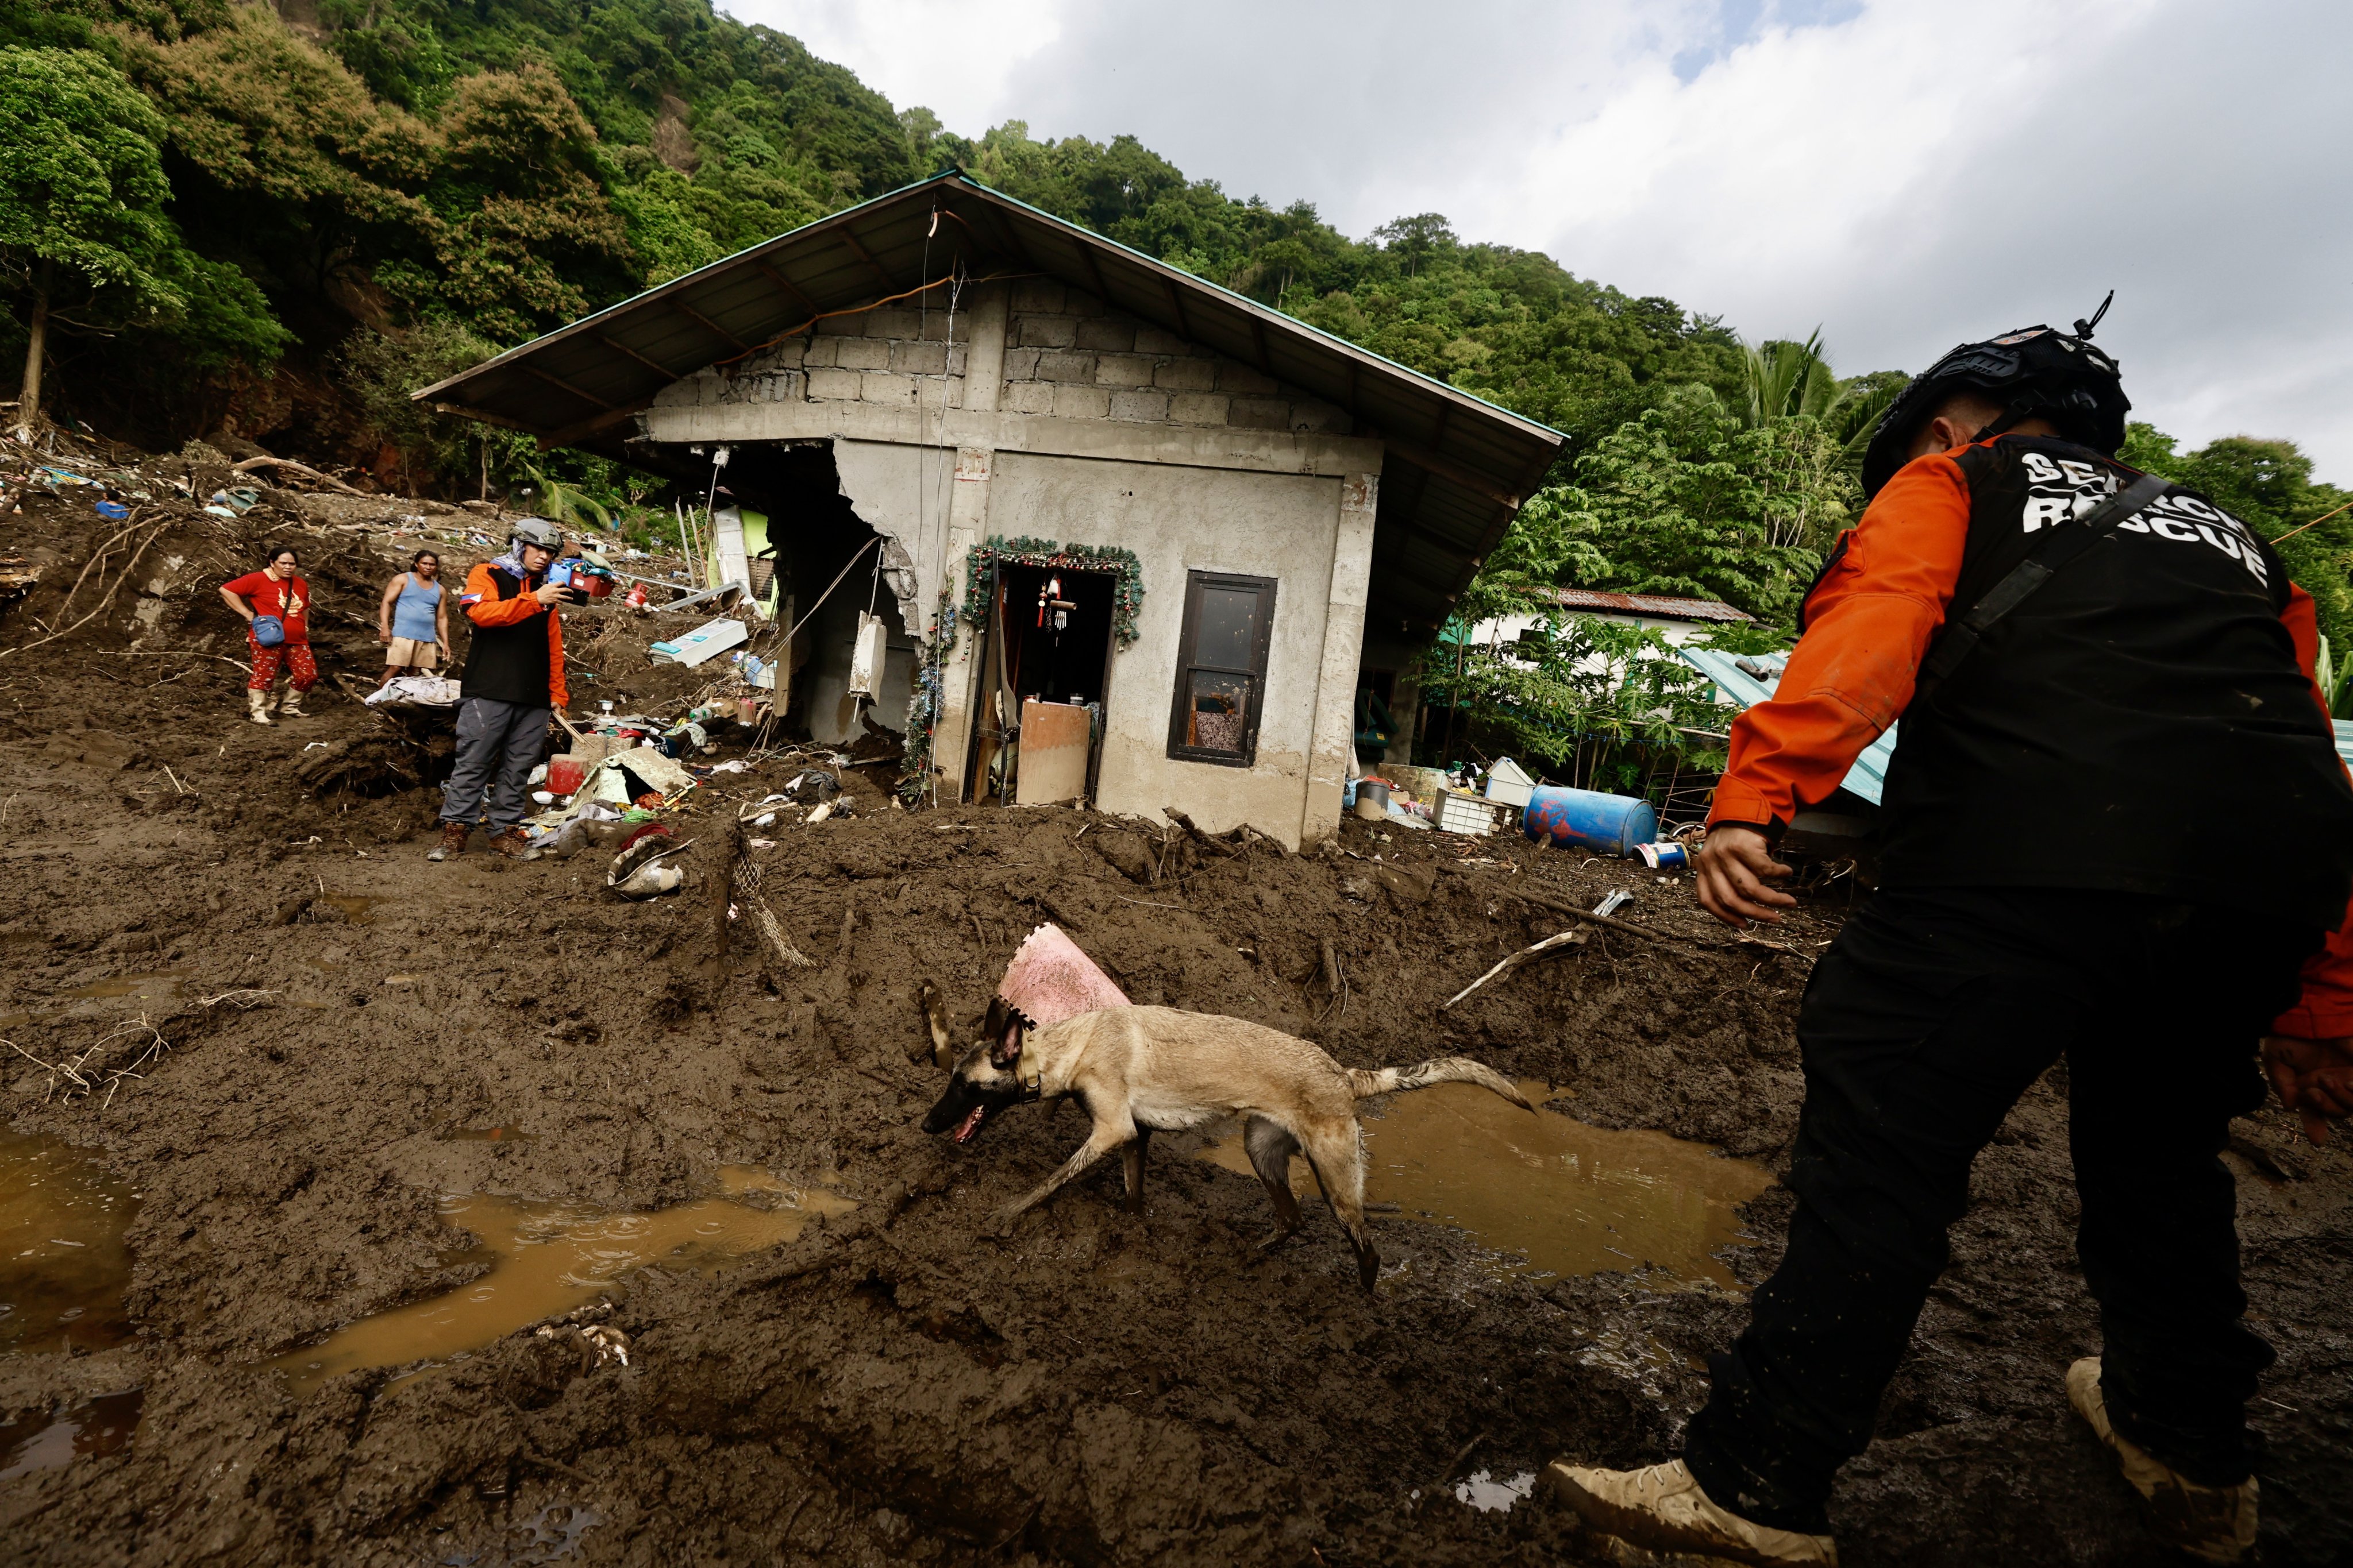
[[[89,49],[0,47],[0,256],[28,296],[19,418],[40,418],[49,331],[158,331],[268,362],[287,334],[252,280],[165,214],[162,115]]]

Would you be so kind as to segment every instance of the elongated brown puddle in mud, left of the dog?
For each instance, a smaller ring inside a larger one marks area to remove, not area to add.
[[[753,1194],[765,1204],[744,1201]],[[736,1258],[798,1239],[816,1215],[852,1208],[856,1204],[838,1192],[791,1187],[758,1166],[720,1166],[720,1197],[652,1213],[489,1194],[442,1199],[442,1218],[480,1239],[456,1260],[489,1258],[489,1274],[365,1316],[271,1366],[287,1373],[287,1387],[301,1399],[327,1378],[362,1366],[464,1361],[518,1328],[593,1302],[633,1269],[659,1262],[718,1272]]]

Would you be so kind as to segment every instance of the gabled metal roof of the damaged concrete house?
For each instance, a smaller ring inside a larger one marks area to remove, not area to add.
[[[939,219],[934,221],[934,205]],[[936,233],[934,233],[936,228]],[[616,451],[633,414],[680,376],[932,280],[1045,273],[1165,331],[1348,411],[1381,440],[1367,623],[1435,630],[1567,440],[1254,299],[1078,223],[936,174],[673,277],[416,393],[527,430],[544,447]]]

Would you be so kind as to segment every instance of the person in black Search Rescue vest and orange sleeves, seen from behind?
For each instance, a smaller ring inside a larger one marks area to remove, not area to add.
[[[1955,348],[1906,388],[1779,691],[1732,726],[1697,884],[1741,926],[1795,903],[1772,886],[1791,816],[1904,719],[1880,884],[1798,1013],[1788,1251],[1682,1460],[1551,1467],[1605,1533],[1838,1561],[1824,1502],[1969,1164],[2066,1058],[2101,1326],[2068,1403],[2177,1547],[2254,1547],[2245,1406],[2273,1352],[2242,1321],[2217,1154],[2266,1072],[2315,1140],[2353,1112],[2353,783],[2311,597],[2242,522],[2115,461],[2132,404],[2097,320]],[[2294,849],[2217,853],[2219,825]]]

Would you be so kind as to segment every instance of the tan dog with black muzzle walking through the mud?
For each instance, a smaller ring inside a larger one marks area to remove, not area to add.
[[[972,1143],[981,1124],[1031,1100],[1078,1098],[1094,1128],[1054,1175],[991,1215],[998,1222],[1049,1199],[1104,1154],[1127,1164],[1127,1206],[1144,1206],[1144,1152],[1153,1133],[1242,1117],[1249,1166],[1275,1206],[1273,1246],[1299,1229],[1292,1154],[1306,1154],[1332,1215],[1355,1246],[1355,1267],[1372,1291],[1381,1253],[1365,1227],[1365,1138],[1355,1103],[1372,1095],[1478,1084],[1534,1110],[1511,1079],[1461,1056],[1414,1067],[1362,1072],[1322,1048],[1245,1018],[1184,1013],[1169,1006],[1115,1006],[1031,1030],[1021,1013],[991,999],[974,1044],[948,1077],[922,1131]]]

